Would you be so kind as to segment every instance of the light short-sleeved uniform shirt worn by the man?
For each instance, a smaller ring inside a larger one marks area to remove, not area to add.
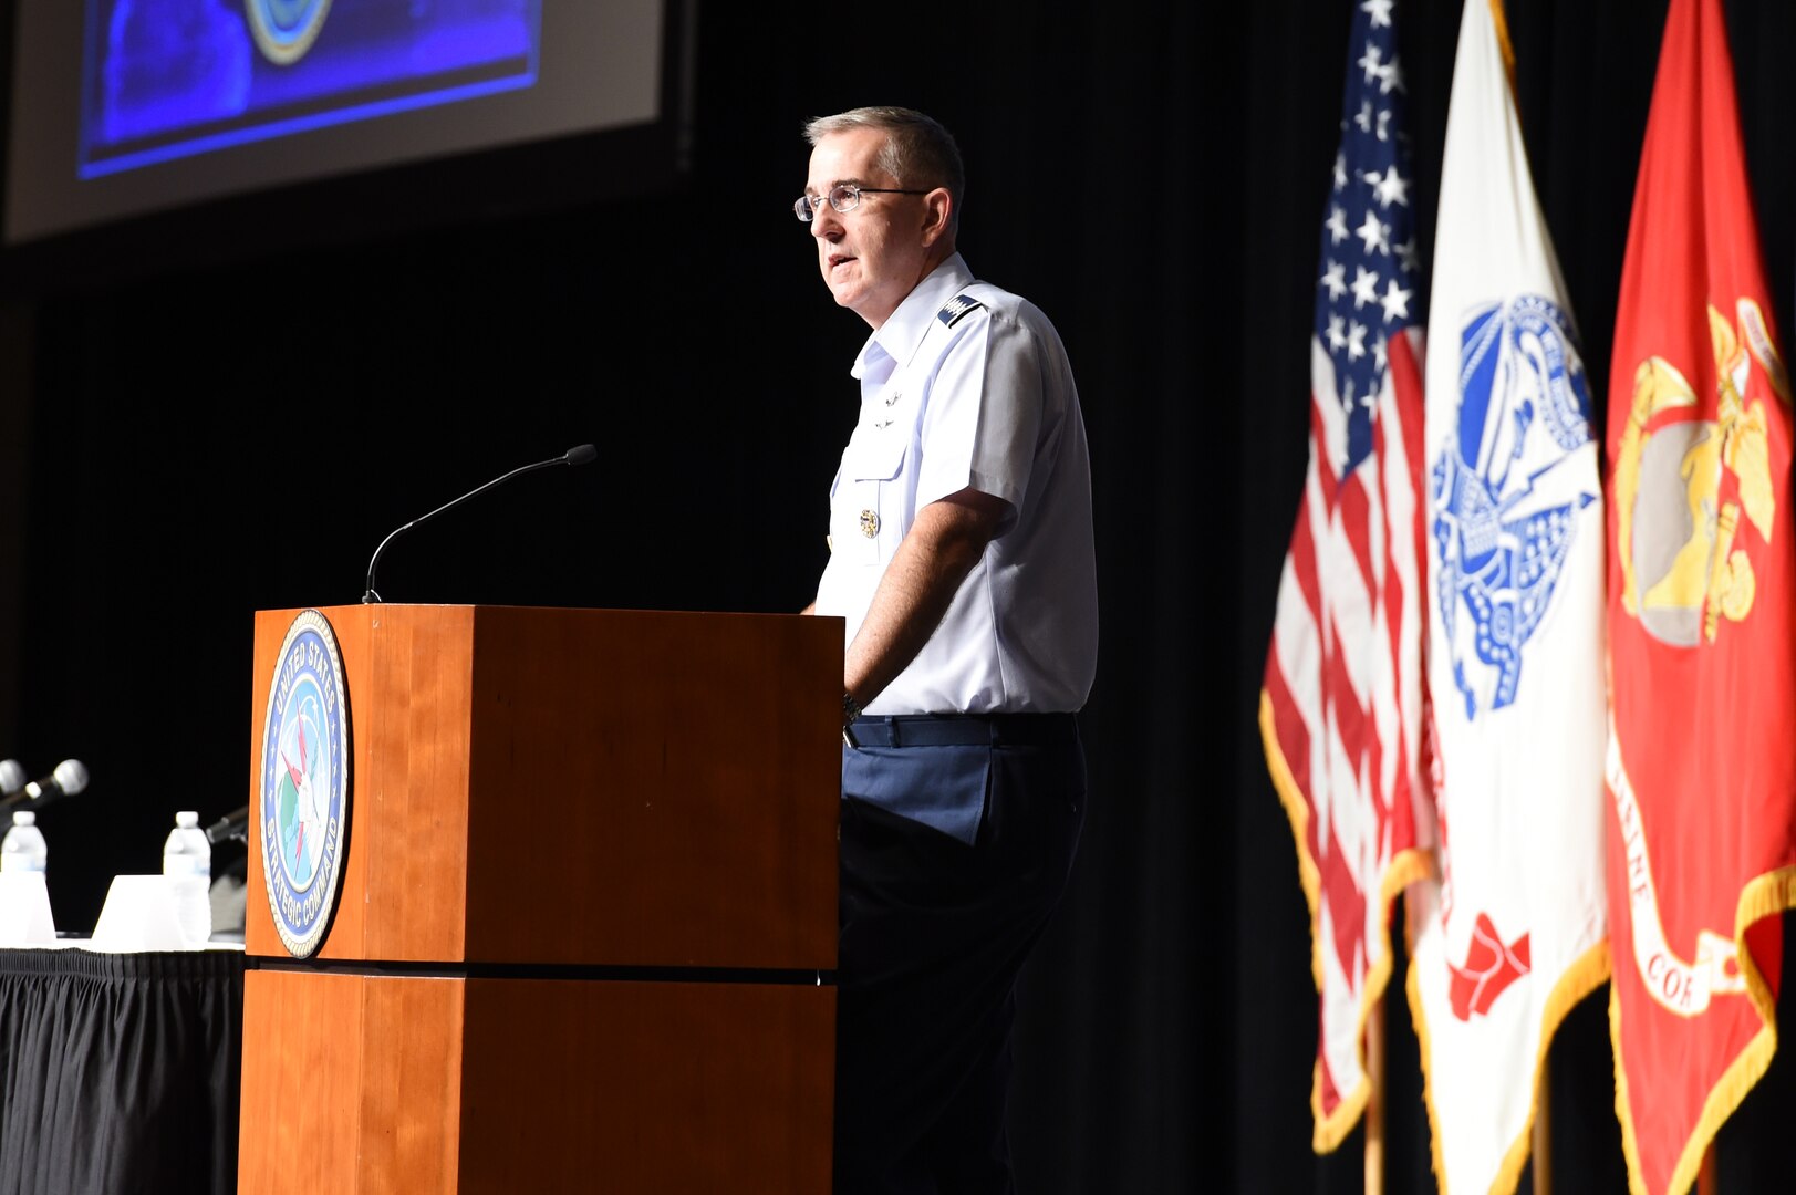
[[[1085,420],[1067,352],[1033,304],[959,253],[855,361],[860,420],[830,487],[817,613],[848,643],[916,512],[963,489],[1009,503],[936,634],[867,713],[1074,712],[1097,668]]]

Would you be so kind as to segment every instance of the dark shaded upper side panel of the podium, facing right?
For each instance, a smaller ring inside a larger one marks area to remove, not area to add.
[[[837,620],[480,609],[467,956],[835,967]]]

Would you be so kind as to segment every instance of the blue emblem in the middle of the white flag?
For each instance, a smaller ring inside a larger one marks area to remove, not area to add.
[[[1458,419],[1435,458],[1435,600],[1466,717],[1516,699],[1521,654],[1597,496],[1561,469],[1589,444],[1589,392],[1564,314],[1537,295],[1473,309]]]

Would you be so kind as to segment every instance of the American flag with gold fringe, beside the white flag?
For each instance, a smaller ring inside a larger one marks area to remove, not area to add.
[[[1422,300],[1395,0],[1356,5],[1311,338],[1309,471],[1279,586],[1261,731],[1297,836],[1322,997],[1315,1146],[1370,1084],[1361,1026],[1390,978],[1417,846],[1422,726]]]

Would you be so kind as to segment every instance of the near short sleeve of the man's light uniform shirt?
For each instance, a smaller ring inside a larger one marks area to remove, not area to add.
[[[961,320],[936,367],[920,429],[916,507],[977,489],[1022,510],[1042,429],[1042,350],[1015,313]]]

